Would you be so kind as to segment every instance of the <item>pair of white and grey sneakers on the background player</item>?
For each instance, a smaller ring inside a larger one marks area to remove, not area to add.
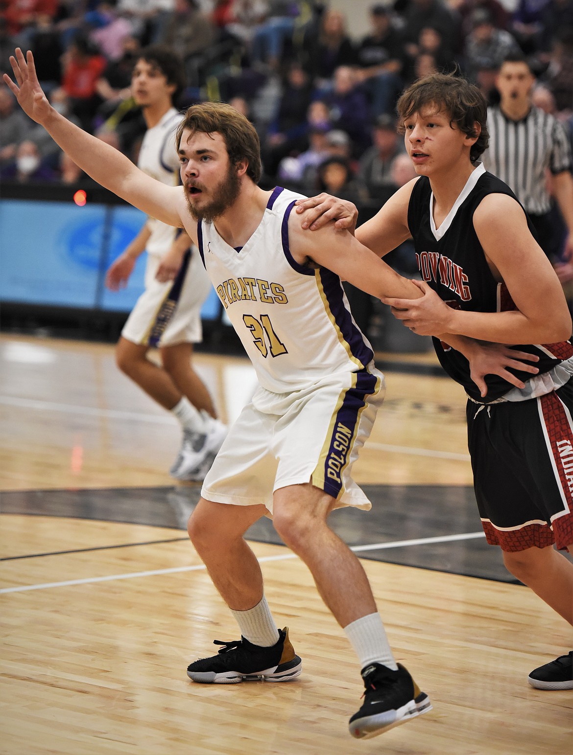
[[[201,481],[211,468],[213,459],[227,437],[227,425],[213,419],[202,411],[206,424],[205,433],[196,430],[184,430],[183,442],[175,464],[169,473],[175,479]]]

